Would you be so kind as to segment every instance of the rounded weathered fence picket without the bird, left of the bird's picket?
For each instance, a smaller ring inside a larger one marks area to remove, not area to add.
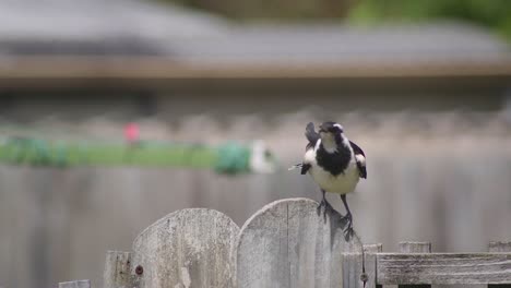
[[[133,281],[140,288],[229,287],[230,251],[238,233],[238,226],[217,211],[171,213],[134,240]]]

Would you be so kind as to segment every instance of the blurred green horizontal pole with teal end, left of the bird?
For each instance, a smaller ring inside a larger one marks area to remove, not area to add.
[[[145,141],[123,144],[9,137],[0,144],[0,163],[11,165],[210,168],[229,175],[249,172],[250,154],[249,147],[231,142],[209,147]]]

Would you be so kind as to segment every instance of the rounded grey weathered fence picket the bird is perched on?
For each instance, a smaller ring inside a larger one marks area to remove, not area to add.
[[[342,287],[338,214],[308,199],[273,202],[248,219],[237,244],[238,288]]]

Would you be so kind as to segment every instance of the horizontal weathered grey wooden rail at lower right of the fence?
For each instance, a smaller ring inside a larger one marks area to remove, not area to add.
[[[507,284],[511,253],[380,253],[378,283],[388,284]]]

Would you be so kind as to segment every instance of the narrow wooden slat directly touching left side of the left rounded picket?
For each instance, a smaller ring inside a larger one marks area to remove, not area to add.
[[[108,251],[103,275],[104,288],[131,287],[131,253]]]

